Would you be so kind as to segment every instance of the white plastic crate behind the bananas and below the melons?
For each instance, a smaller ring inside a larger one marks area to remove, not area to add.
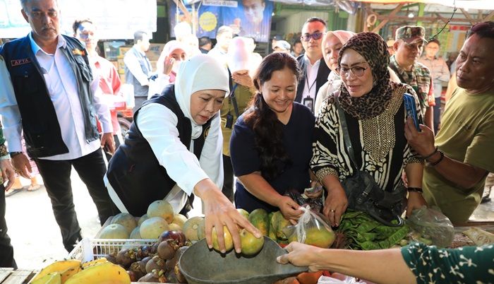
[[[149,246],[156,242],[156,239],[90,239],[85,237],[68,254],[68,259],[78,259],[80,261],[92,261],[119,252],[123,247],[133,248]]]

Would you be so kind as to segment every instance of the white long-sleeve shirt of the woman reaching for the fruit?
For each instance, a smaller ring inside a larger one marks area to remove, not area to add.
[[[191,195],[195,184],[210,178],[220,189],[223,187],[222,146],[223,137],[219,116],[212,119],[210,131],[205,139],[203,151],[198,160],[193,153],[194,141],[188,149],[181,143],[178,118],[164,105],[149,104],[139,110],[137,126],[150,144],[159,165],[167,169],[167,174],[181,189],[179,194],[169,197],[174,208],[182,208],[186,195]],[[172,193],[173,194],[173,193]]]

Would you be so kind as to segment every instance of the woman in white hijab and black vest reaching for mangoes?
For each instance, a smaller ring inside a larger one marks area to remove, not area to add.
[[[206,239],[212,227],[224,250],[226,225],[239,251],[236,225],[260,237],[222,194],[222,133],[219,108],[229,92],[227,69],[200,54],[183,61],[174,85],[143,103],[124,143],[109,162],[109,194],[122,212],[140,216],[164,199],[175,213],[190,210],[191,197],[204,203]]]

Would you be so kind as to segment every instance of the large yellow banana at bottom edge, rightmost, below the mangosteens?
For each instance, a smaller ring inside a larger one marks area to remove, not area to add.
[[[83,271],[68,278],[65,284],[131,284],[125,269],[111,262],[88,266]]]

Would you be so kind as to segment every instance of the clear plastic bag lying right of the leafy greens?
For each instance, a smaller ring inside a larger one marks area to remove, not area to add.
[[[432,240],[432,244],[438,247],[449,247],[453,241],[453,224],[439,208],[422,206],[411,213],[406,223],[412,230],[420,233],[421,237]]]

